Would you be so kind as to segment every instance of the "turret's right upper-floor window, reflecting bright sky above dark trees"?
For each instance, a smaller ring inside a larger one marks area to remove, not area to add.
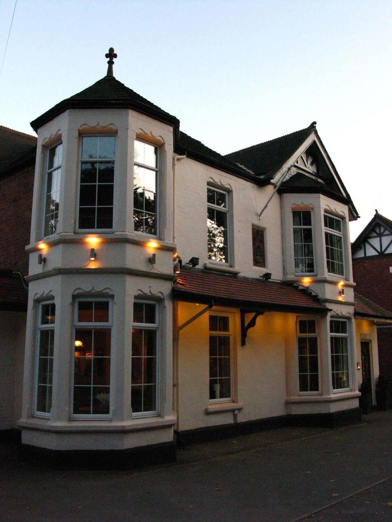
[[[158,235],[158,147],[135,140],[133,221],[135,232]]]

